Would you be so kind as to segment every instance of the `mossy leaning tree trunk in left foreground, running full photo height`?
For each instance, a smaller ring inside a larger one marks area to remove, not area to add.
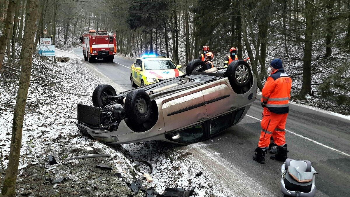
[[[38,0],[28,0],[29,7],[26,17],[26,29],[23,38],[23,45],[19,65],[21,65],[21,76],[17,91],[16,106],[13,114],[12,137],[10,146],[9,162],[3,182],[1,196],[15,196],[16,178],[18,173],[18,163],[20,159],[23,118],[26,109],[28,88],[30,82],[33,41],[36,32],[36,17]]]

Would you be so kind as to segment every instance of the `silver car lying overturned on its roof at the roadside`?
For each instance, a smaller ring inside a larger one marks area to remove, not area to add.
[[[78,104],[78,129],[111,144],[208,139],[242,120],[255,100],[257,80],[243,60],[205,68],[202,60],[192,60],[185,75],[119,94],[99,85],[94,107]]]

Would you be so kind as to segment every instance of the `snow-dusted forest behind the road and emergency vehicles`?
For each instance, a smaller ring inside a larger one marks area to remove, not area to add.
[[[22,41],[27,7],[28,0],[1,0],[1,29],[9,11],[14,21],[0,62],[5,53],[13,59],[12,43]],[[39,0],[37,11],[36,35],[47,29],[58,48],[79,45],[89,29],[107,29],[124,56],[165,54],[186,65],[208,45],[221,67],[236,47],[240,59],[250,57],[259,89],[266,65],[280,58],[296,82],[294,98],[350,105],[349,0]]]

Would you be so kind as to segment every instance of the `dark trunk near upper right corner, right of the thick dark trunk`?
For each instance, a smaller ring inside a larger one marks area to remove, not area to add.
[[[334,8],[334,0],[328,0],[327,2],[327,10],[331,10]],[[334,36],[333,30],[333,21],[334,16],[326,13],[326,54],[325,57],[329,57],[332,55],[332,39]]]

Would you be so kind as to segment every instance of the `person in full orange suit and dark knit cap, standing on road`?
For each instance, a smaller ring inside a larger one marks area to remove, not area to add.
[[[285,125],[289,111],[288,103],[292,79],[284,72],[280,59],[271,61],[268,72],[271,75],[261,90],[261,106],[264,108],[264,112],[262,113],[260,139],[253,159],[259,163],[265,163],[265,154],[272,135],[274,143],[278,147],[277,154],[271,155],[270,158],[285,162],[288,152]]]

